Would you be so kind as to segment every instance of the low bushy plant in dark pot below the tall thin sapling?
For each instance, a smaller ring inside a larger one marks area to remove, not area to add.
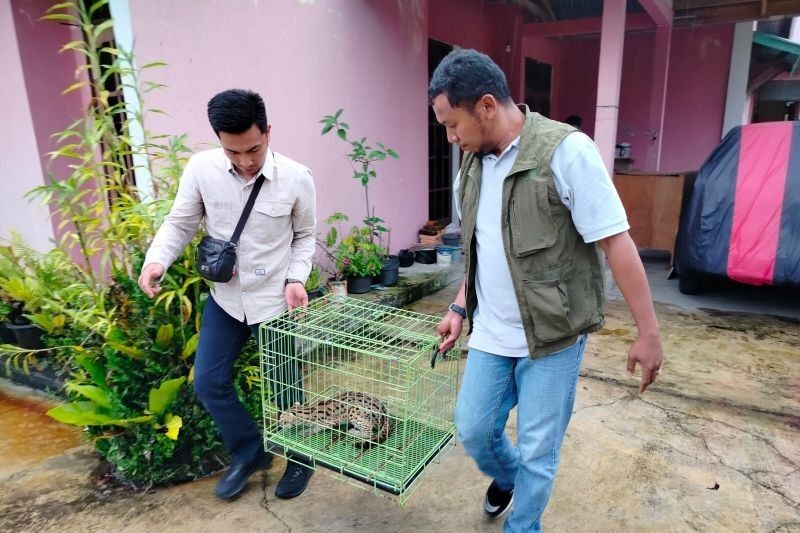
[[[370,228],[355,227],[336,250],[336,265],[347,279],[347,292],[369,292],[373,276],[383,268],[383,247],[370,241]]]

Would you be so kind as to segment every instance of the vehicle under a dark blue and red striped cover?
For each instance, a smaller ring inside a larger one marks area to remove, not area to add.
[[[695,294],[705,274],[800,286],[800,122],[733,128],[684,199],[675,267]]]

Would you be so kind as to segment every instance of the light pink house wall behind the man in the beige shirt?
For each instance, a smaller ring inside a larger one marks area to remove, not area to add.
[[[272,147],[309,166],[317,185],[320,231],[333,211],[365,214],[364,194],[344,159],[347,146],[321,137],[319,120],[344,108],[357,136],[400,154],[378,165],[370,187],[376,214],[393,227],[392,248],[417,241],[428,214],[427,5],[424,0],[130,2],[137,62],[163,60],[150,71],[168,88],[146,104],[165,111],[146,126],[189,133],[196,148],[216,143],[206,103],[243,87],[267,102]],[[176,21],[180,21],[179,24]]]

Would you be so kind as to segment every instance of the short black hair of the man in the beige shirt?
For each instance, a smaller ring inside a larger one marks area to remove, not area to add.
[[[258,126],[267,131],[267,109],[258,93],[244,89],[228,89],[208,101],[208,121],[214,133],[243,133]]]

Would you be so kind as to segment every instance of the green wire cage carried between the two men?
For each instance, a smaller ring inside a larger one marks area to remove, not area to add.
[[[262,324],[264,444],[405,503],[454,443],[460,345],[439,318],[329,295]]]

